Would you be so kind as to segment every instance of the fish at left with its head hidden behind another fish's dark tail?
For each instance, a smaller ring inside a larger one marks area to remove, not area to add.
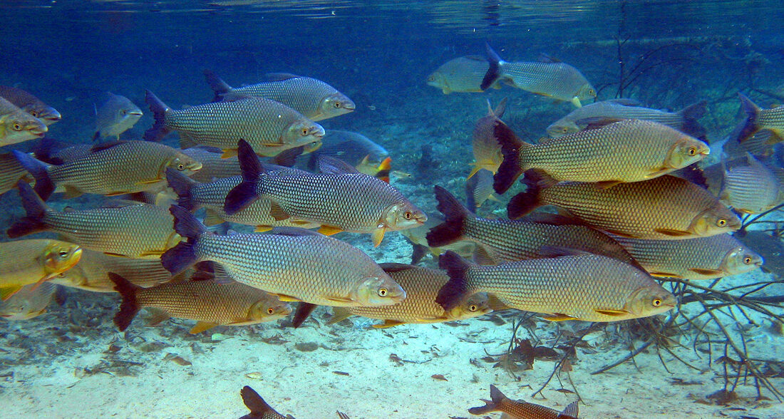
[[[11,226],[8,237],[50,231],[85,249],[128,258],[158,258],[180,242],[169,211],[132,201],[107,203],[102,208],[54,211],[27,183],[19,184],[27,216]]]

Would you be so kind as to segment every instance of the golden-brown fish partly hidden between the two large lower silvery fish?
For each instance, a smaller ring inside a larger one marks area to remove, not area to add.
[[[381,268],[405,290],[405,300],[400,304],[380,307],[336,307],[329,324],[337,323],[349,316],[363,316],[384,320],[375,328],[393,327],[405,323],[441,323],[465,320],[491,312],[488,296],[478,293],[466,298],[450,311],[445,311],[435,302],[438,290],[449,280],[449,276],[438,269],[401,263],[382,263]]]

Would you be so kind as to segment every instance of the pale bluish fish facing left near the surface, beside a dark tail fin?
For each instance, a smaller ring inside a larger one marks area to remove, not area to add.
[[[481,88],[490,64],[483,56],[459,56],[441,64],[427,76],[427,85],[440,88],[445,95],[452,92],[484,92]],[[487,88],[500,88],[494,83]]]

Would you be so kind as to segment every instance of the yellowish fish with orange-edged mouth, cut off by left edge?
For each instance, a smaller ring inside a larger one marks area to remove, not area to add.
[[[28,284],[42,284],[71,269],[82,247],[60,240],[34,239],[0,243],[0,299]]]

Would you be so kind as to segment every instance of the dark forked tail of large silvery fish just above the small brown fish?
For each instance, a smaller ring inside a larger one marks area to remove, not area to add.
[[[208,232],[207,227],[201,224],[191,211],[172,205],[169,212],[174,215],[174,230],[187,238],[187,242],[180,242],[161,255],[163,267],[172,275],[177,275],[196,262],[201,262],[196,256],[195,247],[199,237]]]

